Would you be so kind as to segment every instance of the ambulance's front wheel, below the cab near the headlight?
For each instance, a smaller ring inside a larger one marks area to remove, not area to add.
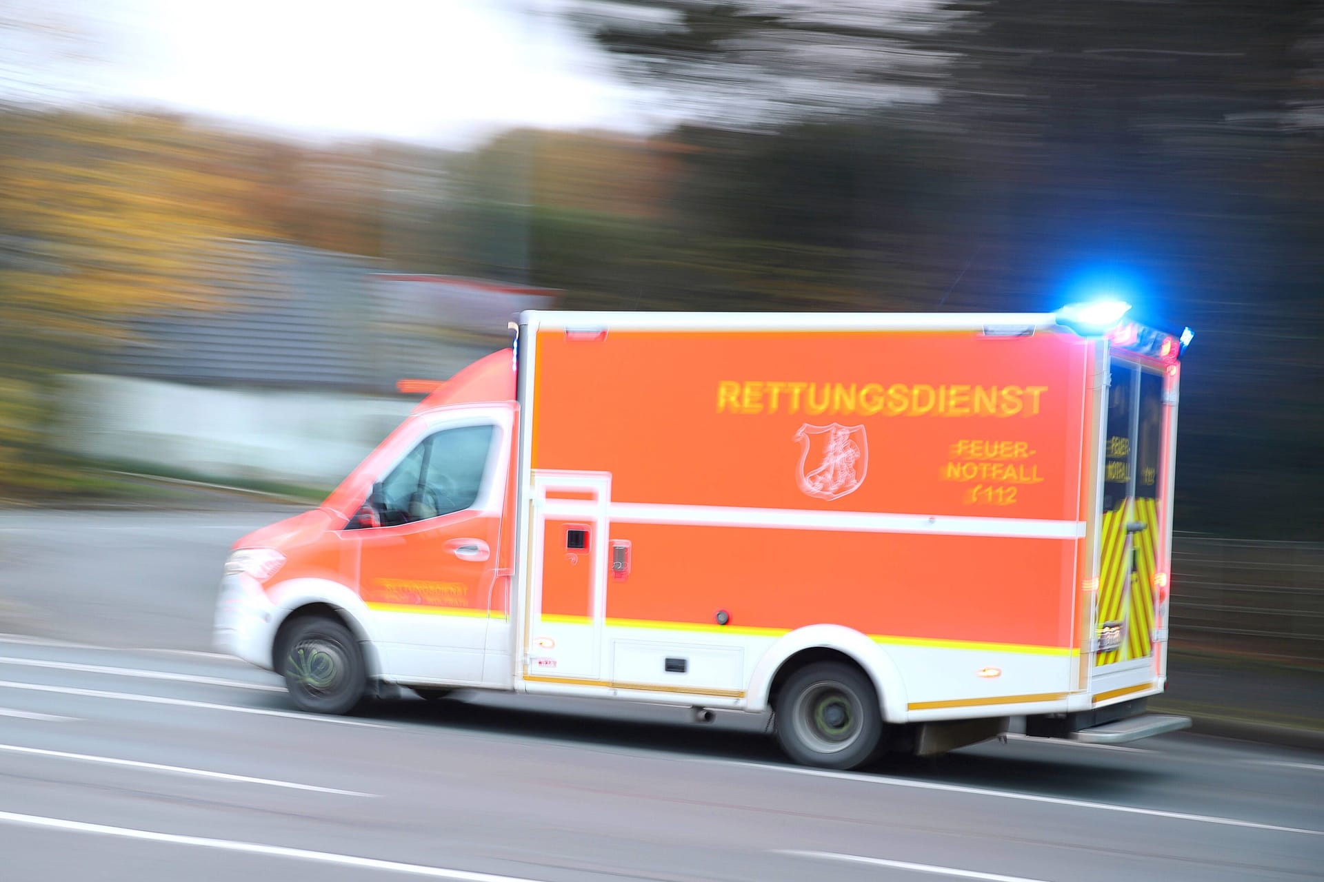
[[[281,676],[294,706],[314,714],[347,714],[368,690],[368,672],[359,640],[326,616],[290,625],[281,641]]]

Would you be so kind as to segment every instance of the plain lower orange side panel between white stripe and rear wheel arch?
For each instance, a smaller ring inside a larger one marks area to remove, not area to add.
[[[609,619],[1071,647],[1075,543],[973,536],[617,524],[630,577]],[[549,555],[551,557],[551,555]]]

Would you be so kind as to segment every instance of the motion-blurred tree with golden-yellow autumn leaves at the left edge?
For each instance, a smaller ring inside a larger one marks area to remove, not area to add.
[[[90,368],[119,316],[205,304],[209,249],[266,231],[244,165],[164,116],[0,112],[0,485],[61,480],[50,372]]]

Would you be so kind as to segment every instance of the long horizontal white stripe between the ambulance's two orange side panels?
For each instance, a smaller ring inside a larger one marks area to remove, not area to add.
[[[553,517],[592,517],[594,502],[547,500]],[[724,505],[653,505],[612,502],[608,514],[620,524],[702,524],[708,526],[761,526],[793,530],[849,530],[855,533],[931,533],[936,536],[1001,536],[1074,540],[1084,536],[1084,521],[1042,521],[1016,517],[949,517],[943,514],[883,514],[875,512],[817,512],[792,508],[736,508]]]

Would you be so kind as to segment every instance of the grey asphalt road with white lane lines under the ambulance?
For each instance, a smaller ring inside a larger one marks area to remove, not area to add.
[[[1309,752],[1013,739],[835,774],[744,715],[293,713],[270,674],[203,655],[225,546],[266,520],[0,517],[0,631],[44,635],[0,637],[0,879],[1321,878]]]

